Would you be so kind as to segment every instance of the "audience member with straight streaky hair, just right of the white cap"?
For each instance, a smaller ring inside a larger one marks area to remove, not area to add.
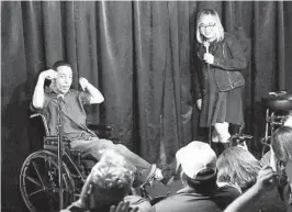
[[[244,193],[255,185],[260,168],[260,161],[243,147],[235,146],[225,149],[217,160],[218,186],[222,186],[223,182],[233,185]],[[255,211],[273,212],[283,207],[277,189],[254,202]]]

